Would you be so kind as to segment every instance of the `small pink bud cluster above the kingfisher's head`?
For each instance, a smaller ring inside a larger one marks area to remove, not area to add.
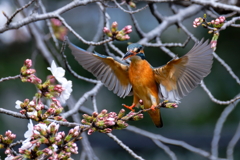
[[[122,30],[118,30],[118,23],[113,22],[111,29],[104,27],[103,32],[108,36],[111,37],[113,40],[118,40],[118,41],[125,41],[130,39],[129,33],[132,32],[132,26],[127,25],[125,26]]]

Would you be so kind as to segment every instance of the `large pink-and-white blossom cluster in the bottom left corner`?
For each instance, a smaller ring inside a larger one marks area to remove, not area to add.
[[[71,154],[78,154],[78,146],[75,143],[80,137],[80,127],[70,129],[68,134],[59,132],[59,124],[55,122],[45,124],[39,123],[33,126],[32,121],[28,123],[28,131],[25,132],[18,155],[14,156],[10,151],[6,152],[10,159],[36,159],[38,157],[49,157],[48,159],[68,159]],[[44,146],[44,147],[43,147]]]

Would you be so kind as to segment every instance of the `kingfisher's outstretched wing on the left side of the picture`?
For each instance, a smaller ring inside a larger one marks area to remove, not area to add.
[[[127,96],[132,85],[129,82],[128,66],[112,57],[90,53],[68,42],[69,48],[78,63],[119,97]]]

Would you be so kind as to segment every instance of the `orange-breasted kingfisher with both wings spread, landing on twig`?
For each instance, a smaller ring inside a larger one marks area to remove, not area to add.
[[[122,60],[111,56],[87,52],[68,42],[69,48],[78,63],[91,72],[110,91],[119,97],[133,95],[131,106],[124,107],[134,111],[140,100],[156,127],[163,126],[160,109],[155,108],[160,100],[180,102],[191,92],[211,70],[213,49],[207,41],[201,40],[181,58],[174,58],[166,65],[152,67],[146,60],[143,46],[132,43]]]

